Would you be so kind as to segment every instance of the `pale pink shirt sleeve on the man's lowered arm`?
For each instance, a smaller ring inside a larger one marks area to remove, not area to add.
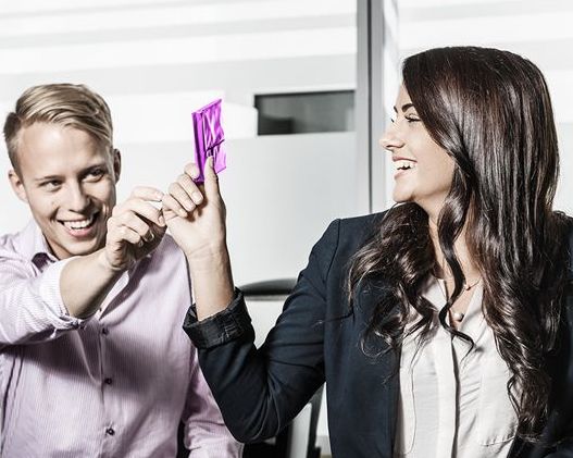
[[[194,349],[191,376],[183,412],[185,447],[189,458],[240,458],[244,445],[225,426]]]

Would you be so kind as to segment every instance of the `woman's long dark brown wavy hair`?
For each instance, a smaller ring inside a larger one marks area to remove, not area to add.
[[[465,281],[453,248],[465,225],[483,278],[484,314],[511,371],[518,433],[537,441],[551,391],[545,361],[561,319],[569,225],[552,210],[559,154],[547,84],[528,60],[477,47],[412,55],[402,77],[425,128],[454,161],[438,218],[439,245],[456,284],[440,310],[441,325],[461,334],[445,317]],[[420,342],[429,336],[433,308],[421,293],[435,262],[427,214],[413,202],[391,208],[349,270],[351,298],[374,275],[389,290],[373,310],[363,345],[374,337],[398,349],[412,308],[421,318],[410,332],[420,331]]]

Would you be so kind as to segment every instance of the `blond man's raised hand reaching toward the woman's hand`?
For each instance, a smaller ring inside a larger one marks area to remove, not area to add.
[[[140,186],[125,202],[113,208],[100,257],[105,265],[123,271],[155,249],[166,227],[161,210],[151,202],[161,202],[162,198],[159,189]]]

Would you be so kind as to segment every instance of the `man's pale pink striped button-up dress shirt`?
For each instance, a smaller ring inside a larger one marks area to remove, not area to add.
[[[0,456],[175,457],[183,420],[189,457],[240,457],[182,330],[191,298],[173,239],[87,320],[62,304],[66,262],[34,222],[0,237]]]

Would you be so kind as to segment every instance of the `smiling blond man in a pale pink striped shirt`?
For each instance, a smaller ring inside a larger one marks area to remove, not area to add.
[[[10,182],[34,221],[0,237],[0,456],[239,457],[180,329],[183,253],[134,189],[85,86],[26,90],[4,124]]]

